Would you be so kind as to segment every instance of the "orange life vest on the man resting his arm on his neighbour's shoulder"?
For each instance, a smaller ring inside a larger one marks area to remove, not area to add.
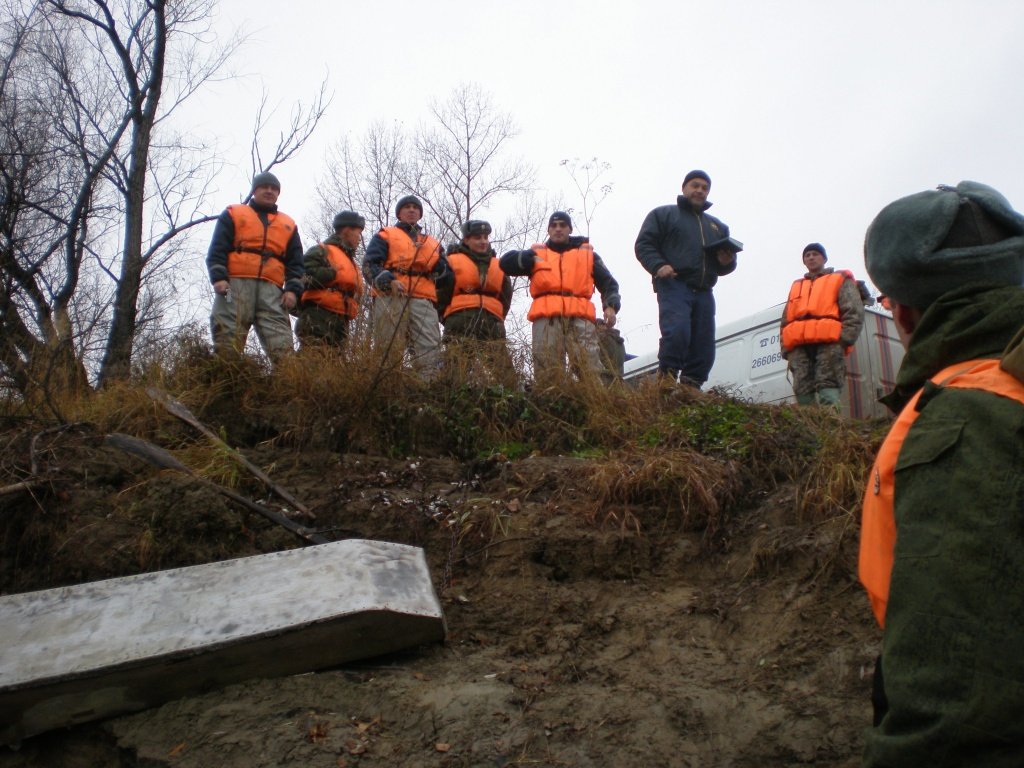
[[[594,302],[594,248],[583,243],[579,248],[558,253],[544,244],[531,246],[537,260],[529,275],[529,295],[534,303],[526,319],[541,317],[586,317],[597,319]]]

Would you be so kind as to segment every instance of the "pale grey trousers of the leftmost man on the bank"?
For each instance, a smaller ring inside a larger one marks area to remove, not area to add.
[[[229,282],[227,296],[214,295],[210,313],[217,351],[241,354],[250,329],[256,330],[256,338],[271,360],[295,351],[292,323],[281,305],[282,290],[257,278],[231,278]]]

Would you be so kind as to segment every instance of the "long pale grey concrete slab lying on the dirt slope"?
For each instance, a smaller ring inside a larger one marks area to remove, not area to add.
[[[0,598],[0,741],[444,639],[423,550],[348,540]]]

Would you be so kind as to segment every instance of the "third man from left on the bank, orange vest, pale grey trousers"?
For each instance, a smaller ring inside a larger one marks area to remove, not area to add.
[[[420,228],[419,198],[399,199],[394,213],[398,223],[375,234],[362,259],[362,273],[374,296],[374,340],[385,354],[401,354],[411,347],[413,365],[430,377],[440,364],[434,282],[447,269],[444,249]]]

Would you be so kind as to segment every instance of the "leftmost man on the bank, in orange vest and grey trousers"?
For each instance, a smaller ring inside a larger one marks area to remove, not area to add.
[[[206,266],[220,352],[241,352],[253,327],[271,359],[295,349],[288,313],[302,294],[302,242],[292,217],[278,210],[280,195],[276,176],[257,173],[249,204],[228,206],[217,217]]]

